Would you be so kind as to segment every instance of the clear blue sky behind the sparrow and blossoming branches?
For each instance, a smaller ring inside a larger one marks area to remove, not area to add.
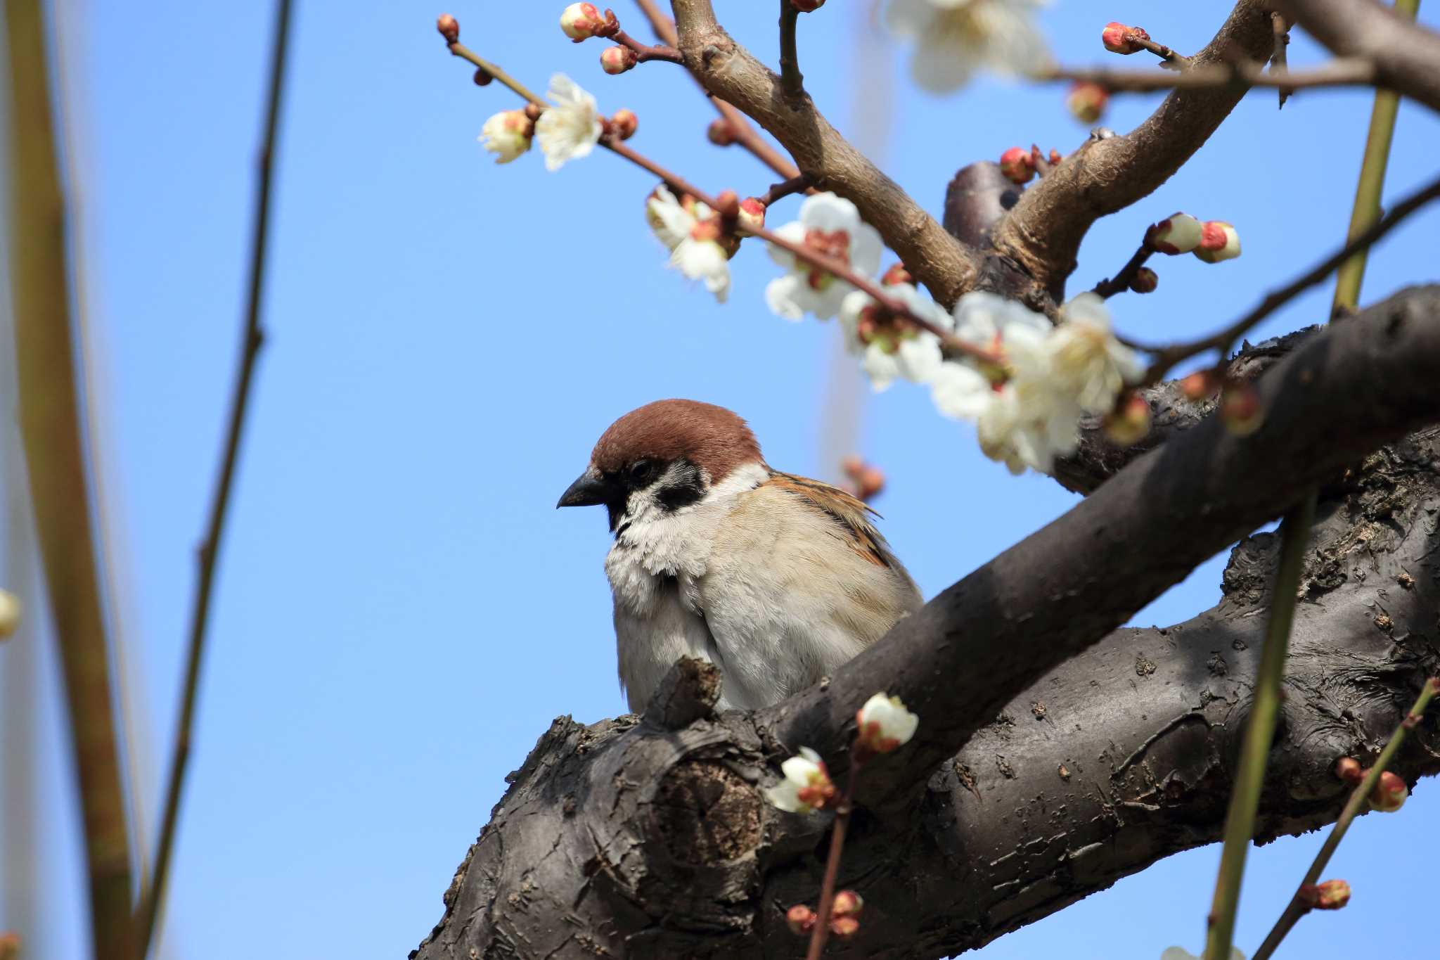
[[[600,73],[600,45],[560,35],[562,6],[467,0],[451,12],[469,46],[531,86],[564,71],[606,111],[635,109],[634,144],[707,189],[760,193],[773,180],[739,150],[706,142],[711,112],[678,69]],[[950,98],[920,94],[903,49],[855,46],[855,32],[873,29],[864,6],[804,19],[806,85],[932,212],[965,163],[1084,138],[1056,86],[982,81]],[[720,9],[737,39],[776,60],[772,4]],[[153,797],[238,345],[272,7],[65,0],[60,10],[91,390],[141,741],[134,767]],[[775,268],[749,245],[724,307],[662,269],[641,216],[654,181],[603,151],[554,174],[539,157],[491,164],[480,125],[516,102],[500,85],[475,88],[445,53],[439,12],[297,4],[269,337],[213,612],[166,933],[173,957],[403,956],[439,917],[504,774],[550,720],[624,710],[605,521],[553,510],[616,416],[668,396],[721,403],[750,420],[778,468],[835,475],[818,438],[825,404],[838,403],[827,393],[834,325],[770,315],[762,289]],[[629,4],[618,13],[647,35]],[[1110,19],[1192,50],[1221,12],[1112,0],[1102,14],[1070,1],[1041,22],[1058,58],[1079,65],[1107,56],[1099,30]],[[1296,65],[1322,56],[1303,36],[1290,50]],[[857,91],[887,89],[874,76],[893,81],[893,99],[865,118]],[[1156,102],[1117,98],[1104,122],[1129,130]],[[1365,91],[1325,91],[1277,114],[1272,92],[1251,94],[1194,163],[1096,225],[1073,289],[1116,271],[1146,223],[1185,209],[1233,220],[1246,255],[1159,263],[1156,294],[1112,301],[1117,324],[1159,341],[1231,320],[1344,236],[1369,102]],[[1387,197],[1428,178],[1437,153],[1440,122],[1405,105]],[[795,203],[779,204],[772,225]],[[1431,209],[1397,230],[1371,259],[1364,299],[1434,279],[1426,250],[1437,227]],[[1323,320],[1329,295],[1299,298],[1257,335]],[[858,386],[848,374],[835,383]],[[890,481],[877,502],[883,530],[926,596],[1074,502],[985,461],[972,430],[940,419],[922,390],[858,390],[860,452]],[[10,492],[13,476],[7,466]],[[1136,622],[1210,606],[1220,570],[1220,560],[1202,566]],[[26,576],[23,563],[7,564],[10,584]],[[7,891],[0,928],[32,902],[30,956],[82,957],[76,819],[42,628],[32,617],[0,652],[0,689],[39,684],[26,744],[45,759],[33,780],[0,771],[0,796],[40,812],[42,877],[36,889]],[[9,728],[6,750],[20,750],[22,735]],[[1331,868],[1355,885],[1352,905],[1305,920],[1290,956],[1339,954],[1371,937],[1428,948],[1413,921],[1423,891],[1407,881],[1431,861],[1414,838],[1436,829],[1428,784],[1403,815],[1365,818]],[[0,841],[10,855],[22,849],[22,838]],[[1243,948],[1259,943],[1319,841],[1286,839],[1251,858]],[[982,956],[1197,950],[1217,853],[1171,858]]]

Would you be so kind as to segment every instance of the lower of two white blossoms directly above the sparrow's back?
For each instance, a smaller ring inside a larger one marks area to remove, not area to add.
[[[886,291],[914,315],[942,330],[955,322],[943,307],[909,284],[893,284]],[[861,366],[877,393],[888,389],[896,379],[927,383],[940,368],[940,338],[909,318],[891,314],[864,291],[845,295],[840,305],[840,322],[845,328],[845,344],[851,353],[863,356]]]

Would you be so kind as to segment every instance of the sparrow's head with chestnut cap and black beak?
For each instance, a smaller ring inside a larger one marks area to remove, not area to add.
[[[605,504],[613,531],[628,517],[688,507],[752,463],[765,461],[739,416],[711,403],[657,400],[600,435],[590,465],[556,507]]]

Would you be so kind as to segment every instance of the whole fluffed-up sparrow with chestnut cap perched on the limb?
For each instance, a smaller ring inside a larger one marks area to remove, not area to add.
[[[720,708],[779,702],[922,604],[873,511],[772,469],[724,407],[657,400],[612,423],[556,504],[590,505],[615,535],[605,573],[634,712],[683,656],[720,669]]]

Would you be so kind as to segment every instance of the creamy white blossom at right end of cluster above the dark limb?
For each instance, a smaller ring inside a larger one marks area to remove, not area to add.
[[[1080,294],[1066,304],[1063,322],[1050,334],[1053,386],[1076,399],[1086,413],[1104,413],[1126,383],[1145,376],[1133,350],[1110,332],[1110,311],[1096,294]]]

